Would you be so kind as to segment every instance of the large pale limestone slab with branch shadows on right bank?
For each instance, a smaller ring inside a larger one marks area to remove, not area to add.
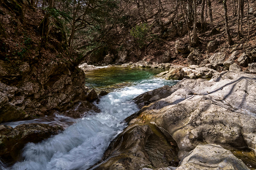
[[[143,107],[138,117],[168,131],[178,143],[180,158],[200,142],[256,148],[255,78],[222,72],[210,81],[182,80],[175,85],[178,90]]]

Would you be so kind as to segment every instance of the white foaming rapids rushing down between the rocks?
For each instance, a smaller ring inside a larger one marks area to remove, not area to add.
[[[118,89],[101,98],[97,115],[83,117],[63,133],[38,144],[29,143],[23,149],[24,161],[10,169],[55,170],[89,169],[101,160],[110,141],[125,127],[121,123],[138,111],[131,100],[148,90],[173,85],[175,82],[153,79]]]

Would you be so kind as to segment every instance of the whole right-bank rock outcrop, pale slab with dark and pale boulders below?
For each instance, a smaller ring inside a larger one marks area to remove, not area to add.
[[[162,88],[170,96],[162,94],[157,97],[162,99],[152,100],[136,113],[138,116],[110,144],[98,169],[159,169],[144,149],[148,134],[158,134],[157,131],[169,144],[178,147],[178,158],[183,160],[178,169],[208,169],[210,164],[212,169],[256,168],[255,157],[251,163],[246,162],[250,156],[244,151],[256,149],[255,89],[256,76],[244,72],[214,73],[209,81],[184,79],[170,88]],[[154,98],[154,93],[157,90],[138,97],[138,104]],[[152,140],[159,142],[159,138]],[[241,152],[246,166],[231,152],[213,144]],[[203,162],[198,164],[200,161]]]

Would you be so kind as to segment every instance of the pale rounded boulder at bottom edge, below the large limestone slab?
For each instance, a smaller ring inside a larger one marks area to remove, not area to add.
[[[181,161],[178,169],[244,169],[249,168],[229,150],[217,144],[200,144]]]

